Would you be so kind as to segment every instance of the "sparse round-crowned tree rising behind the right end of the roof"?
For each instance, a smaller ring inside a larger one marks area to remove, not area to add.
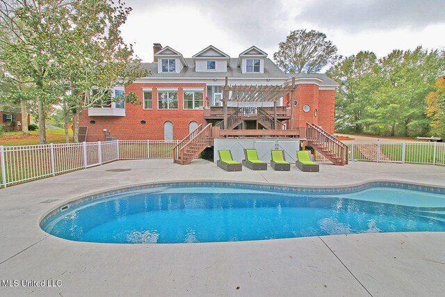
[[[280,42],[273,54],[277,65],[289,73],[315,73],[337,59],[337,47],[318,31],[296,30]]]

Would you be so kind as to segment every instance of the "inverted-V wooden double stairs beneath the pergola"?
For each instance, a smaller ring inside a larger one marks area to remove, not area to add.
[[[279,120],[276,121],[272,115],[261,109],[261,107],[240,107],[227,116],[227,127],[224,127],[224,120],[218,122],[215,127],[231,130],[241,125],[243,120],[257,120],[258,124],[265,129],[284,129],[284,125]]]

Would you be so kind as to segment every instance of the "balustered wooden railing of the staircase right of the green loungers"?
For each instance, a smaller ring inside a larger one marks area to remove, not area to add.
[[[340,159],[341,165],[348,164],[348,145],[334,138],[334,136],[327,133],[327,131],[317,125],[307,123],[306,138],[308,141],[316,143],[321,150],[334,154],[337,159]]]

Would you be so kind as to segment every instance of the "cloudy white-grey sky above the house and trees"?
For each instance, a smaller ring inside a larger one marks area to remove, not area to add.
[[[256,45],[273,54],[290,31],[327,35],[343,56],[360,50],[445,47],[444,0],[127,0],[122,27],[145,62],[152,46],[169,45],[188,58],[209,45],[232,57]]]

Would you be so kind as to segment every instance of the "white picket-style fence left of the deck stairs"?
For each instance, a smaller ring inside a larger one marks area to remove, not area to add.
[[[0,187],[56,176],[122,159],[170,159],[179,141],[105,141],[0,145]]]

